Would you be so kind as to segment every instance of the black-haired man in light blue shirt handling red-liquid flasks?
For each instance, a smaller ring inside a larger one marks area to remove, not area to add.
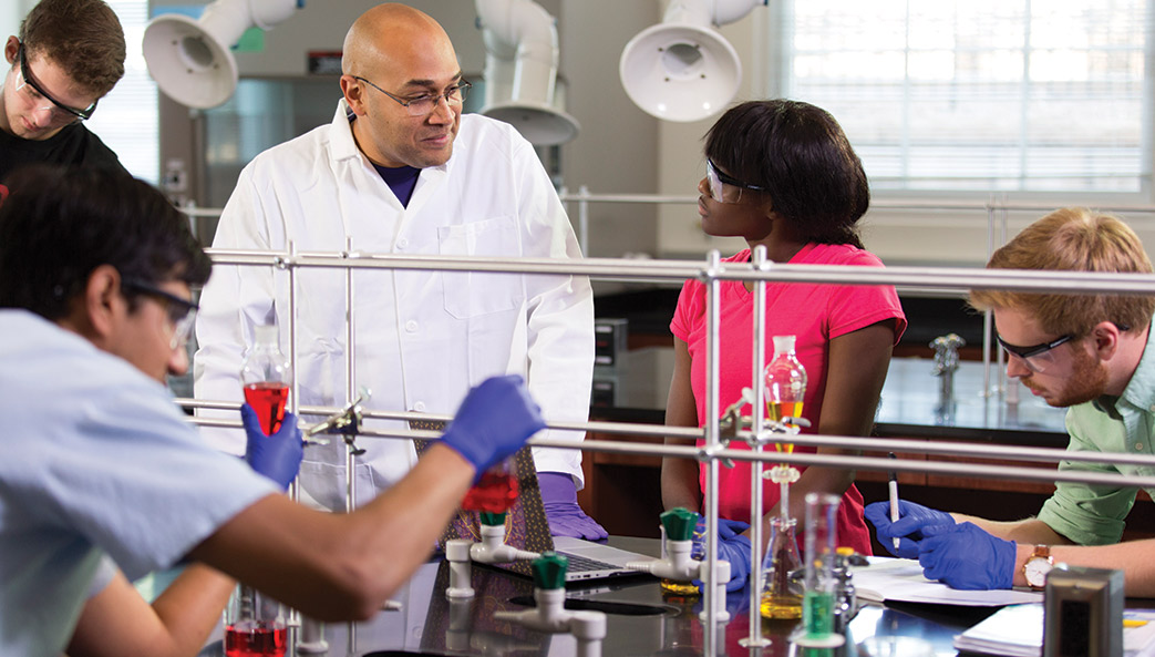
[[[281,494],[301,456],[291,413],[264,436],[243,408],[254,473],[164,388],[210,269],[187,218],[119,172],[16,178],[0,204],[0,655],[195,655],[234,577],[311,618],[367,618],[475,476],[544,426],[519,378],[489,380],[388,493],[305,509]],[[180,560],[151,606],[128,583]]]

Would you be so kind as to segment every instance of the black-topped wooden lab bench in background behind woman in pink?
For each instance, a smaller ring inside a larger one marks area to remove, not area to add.
[[[591,420],[663,424],[666,393],[673,369],[673,350],[647,346],[619,354],[613,366],[594,373]],[[917,441],[952,441],[982,445],[1064,448],[1067,434],[1064,409],[1048,406],[1016,381],[1004,395],[984,395],[986,374],[982,363],[960,361],[954,374],[954,395],[947,404],[940,396],[940,379],[931,374],[927,358],[894,358],[882,388],[873,435]],[[991,386],[998,383],[992,365]],[[722,406],[733,400],[721,400]],[[662,439],[626,434],[593,433],[591,439],[657,443]],[[864,440],[864,454],[871,451]],[[927,456],[899,451],[900,458],[963,461],[960,457]],[[983,463],[1055,469],[1055,464],[984,460]],[[586,488],[579,501],[610,533],[657,537],[662,512],[661,458],[588,451],[583,457]],[[1043,481],[981,478],[963,475],[902,472],[902,497],[934,508],[949,509],[992,520],[1020,520],[1036,514],[1055,486]],[[859,471],[856,485],[866,502],[887,498],[886,475]],[[1155,505],[1139,493],[1127,518],[1124,537],[1155,537]],[[1143,503],[1146,502],[1146,503]],[[880,546],[875,553],[885,554]]]

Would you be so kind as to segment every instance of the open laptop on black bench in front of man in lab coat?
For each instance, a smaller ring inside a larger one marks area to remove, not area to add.
[[[432,431],[444,430],[440,423],[410,421],[411,428]],[[438,426],[440,425],[440,426]],[[420,455],[429,441],[416,441]],[[423,445],[425,443],[425,445]],[[654,557],[602,545],[593,540],[582,540],[567,536],[551,536],[550,523],[545,517],[545,506],[542,502],[542,491],[537,486],[537,469],[534,466],[534,455],[530,448],[522,448],[514,456],[517,473],[517,501],[506,514],[506,544],[531,552],[557,552],[569,560],[566,582],[598,581],[609,577],[649,576],[646,573],[626,568],[629,561],[648,561]],[[456,515],[441,535],[438,547],[445,550],[445,543],[452,539],[480,540],[480,520],[477,512],[457,509]],[[500,570],[515,573],[526,577],[532,576],[529,561],[487,565]]]

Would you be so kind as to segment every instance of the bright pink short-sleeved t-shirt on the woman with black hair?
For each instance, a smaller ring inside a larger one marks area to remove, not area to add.
[[[728,257],[724,262],[746,262],[750,249]],[[873,254],[849,245],[810,244],[803,247],[789,264],[854,264],[881,267]],[[740,281],[721,283],[721,324],[718,329],[718,413],[742,396],[742,389],[753,386],[750,372],[753,349],[753,293]],[[798,360],[806,368],[806,395],[803,417],[811,421],[807,433],[815,433],[822,413],[826,394],[826,364],[830,339],[894,319],[895,343],[907,328],[907,319],[899,303],[899,294],[889,285],[819,285],[812,283],[774,283],[766,286],[766,356],[774,357],[770,341],[775,335],[793,335]],[[670,322],[673,335],[690,350],[691,387],[698,405],[699,425],[706,417],[706,285],[687,281],[681,288],[678,307]],[[748,412],[748,408],[746,411]],[[735,449],[748,449],[733,442]],[[814,451],[813,448],[798,448]],[[804,470],[799,466],[799,470]],[[706,468],[701,469],[705,491]],[[763,508],[778,501],[778,485],[767,480],[762,488]],[[721,468],[718,477],[718,514],[730,520],[750,520],[750,463],[736,462],[733,468]],[[800,522],[802,518],[799,518]],[[799,528],[800,529],[800,528]],[[839,544],[854,547],[862,554],[871,553],[870,531],[863,520],[863,498],[850,486],[842,497],[839,509]]]

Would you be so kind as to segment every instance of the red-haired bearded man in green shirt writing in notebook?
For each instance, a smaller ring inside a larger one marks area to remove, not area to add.
[[[988,268],[1152,272],[1139,237],[1119,219],[1064,208],[994,252]],[[1007,375],[1052,406],[1070,408],[1068,451],[1153,453],[1155,349],[1147,349],[1155,298],[975,290],[991,309]],[[1155,475],[1155,468],[1064,461],[1064,472]],[[882,545],[918,558],[927,577],[960,589],[1042,587],[1055,562],[1119,568],[1128,596],[1155,595],[1155,539],[1119,543],[1138,491],[1059,481],[1038,515],[997,522],[901,501],[866,507]],[[1155,494],[1155,491],[1148,491]]]

